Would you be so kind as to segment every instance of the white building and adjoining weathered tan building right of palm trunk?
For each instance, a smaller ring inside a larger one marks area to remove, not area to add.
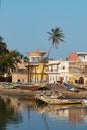
[[[49,60],[49,83],[57,83],[63,80],[71,84],[87,84],[87,62]]]

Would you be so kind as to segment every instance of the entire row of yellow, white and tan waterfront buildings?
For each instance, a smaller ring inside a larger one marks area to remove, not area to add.
[[[12,82],[56,83],[65,80],[71,84],[87,84],[87,53],[70,53],[68,60],[49,60],[44,66],[45,51],[28,52],[29,61],[18,63],[12,73]],[[44,72],[43,72],[44,66]],[[43,73],[42,73],[43,72]],[[43,78],[42,78],[43,74]]]

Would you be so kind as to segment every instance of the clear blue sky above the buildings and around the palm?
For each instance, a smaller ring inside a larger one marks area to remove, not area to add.
[[[65,59],[70,52],[87,52],[87,0],[1,0],[0,36],[8,49],[23,55],[48,52],[52,28],[60,27],[64,43],[50,58]]]

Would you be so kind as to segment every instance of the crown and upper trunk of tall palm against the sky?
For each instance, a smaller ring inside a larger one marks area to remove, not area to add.
[[[52,46],[54,45],[57,48],[57,45],[60,42],[64,42],[64,34],[60,27],[56,27],[55,29],[51,29],[51,32],[48,32],[50,35],[49,40],[52,40],[52,44],[50,46],[50,49],[48,51],[47,58],[49,57],[49,54],[51,52]]]

